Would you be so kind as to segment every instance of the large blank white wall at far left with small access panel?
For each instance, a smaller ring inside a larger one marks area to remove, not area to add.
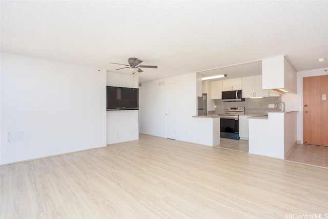
[[[2,53],[1,164],[106,146],[105,87],[103,69]]]

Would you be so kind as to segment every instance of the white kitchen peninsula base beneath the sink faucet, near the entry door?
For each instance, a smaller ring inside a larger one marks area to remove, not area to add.
[[[250,116],[249,153],[284,159],[296,144],[297,111]]]

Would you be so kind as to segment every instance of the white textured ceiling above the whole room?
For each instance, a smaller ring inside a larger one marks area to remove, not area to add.
[[[129,57],[158,66],[137,73],[140,82],[281,54],[298,71],[325,68],[327,9],[328,1],[1,1],[1,50],[109,71]],[[257,74],[250,69],[228,77]]]

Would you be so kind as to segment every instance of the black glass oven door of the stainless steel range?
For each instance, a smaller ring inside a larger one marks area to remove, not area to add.
[[[221,117],[220,137],[239,140],[238,118]]]

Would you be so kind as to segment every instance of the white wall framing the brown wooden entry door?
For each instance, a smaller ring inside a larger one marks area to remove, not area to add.
[[[325,71],[327,70],[327,71]],[[297,94],[283,94],[282,101],[286,103],[286,110],[297,110],[297,141],[303,143],[303,77],[328,74],[327,68],[312,69],[297,72]]]

